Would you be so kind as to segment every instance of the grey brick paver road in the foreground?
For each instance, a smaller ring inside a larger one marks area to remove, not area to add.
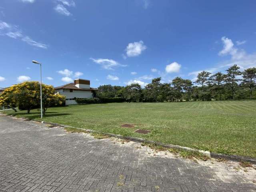
[[[0,191],[256,191],[233,168],[152,156],[135,145],[0,116]]]

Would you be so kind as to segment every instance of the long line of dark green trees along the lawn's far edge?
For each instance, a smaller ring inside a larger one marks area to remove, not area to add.
[[[170,83],[161,83],[161,77],[152,79],[144,88],[140,84],[127,86],[101,85],[96,97],[122,97],[128,102],[180,102],[256,99],[256,68],[243,72],[236,64],[226,73],[198,73],[196,81],[176,77]]]

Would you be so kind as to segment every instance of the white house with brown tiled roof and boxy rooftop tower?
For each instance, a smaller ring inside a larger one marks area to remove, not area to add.
[[[94,98],[98,89],[90,87],[90,80],[75,79],[74,83],[68,83],[55,87],[55,93],[66,96],[66,105],[76,105],[76,98]]]

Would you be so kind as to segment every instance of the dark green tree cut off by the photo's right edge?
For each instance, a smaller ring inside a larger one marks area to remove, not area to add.
[[[252,90],[256,87],[256,68],[248,68],[242,72],[243,81],[242,84],[249,88],[250,99],[252,99]]]

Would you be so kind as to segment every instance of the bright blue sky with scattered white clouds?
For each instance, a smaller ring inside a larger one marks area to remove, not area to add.
[[[256,66],[254,0],[1,0],[0,87],[142,86]]]

